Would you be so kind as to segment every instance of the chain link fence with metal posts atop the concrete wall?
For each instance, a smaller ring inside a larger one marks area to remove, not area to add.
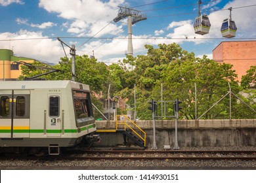
[[[136,86],[135,86],[136,87]],[[251,101],[244,101],[247,99],[250,93],[239,93],[235,94],[232,92],[230,84],[228,83],[229,90],[221,95],[216,101],[210,103],[207,107],[202,107],[202,103],[198,100],[198,91],[196,87],[196,83],[194,84],[194,88],[191,88],[190,95],[193,95],[194,101],[192,101],[192,105],[188,105],[186,100],[182,102],[182,108],[180,113],[180,118],[182,117],[182,113],[184,110],[190,110],[191,119],[200,120],[200,119],[237,119],[238,113],[240,118],[248,118],[246,116],[251,116],[249,118],[256,118],[256,99],[253,98]],[[173,101],[175,99],[166,99],[163,94],[163,85],[161,85],[161,91],[159,92],[157,103],[156,116],[160,120],[165,120],[168,116],[173,116]],[[109,90],[110,91],[110,90]],[[120,97],[113,97],[114,93],[110,93],[107,91],[106,93],[102,93],[101,95],[96,95],[93,93],[93,107],[95,113],[96,120],[116,120],[116,115],[127,115],[131,120],[145,120],[140,118],[140,111],[137,110],[137,93],[134,90],[134,98],[133,98],[133,107],[127,104],[128,99],[121,99]],[[168,92],[165,90],[165,93]],[[172,91],[169,91],[172,92]],[[105,97],[104,97],[105,96]],[[107,96],[107,97],[106,97]],[[242,99],[244,98],[244,99]],[[165,100],[166,99],[166,100]],[[151,99],[148,99],[151,100]],[[131,103],[131,102],[130,102]],[[145,105],[146,106],[146,105]],[[149,104],[147,104],[149,106]],[[224,108],[224,109],[223,109]],[[216,111],[216,115],[214,112],[210,113],[211,110]],[[218,113],[218,110],[221,112]],[[147,107],[144,107],[144,112],[147,111],[148,114],[152,114]],[[217,114],[218,113],[218,114]],[[216,117],[217,116],[217,117]],[[139,118],[138,118],[139,117]]]

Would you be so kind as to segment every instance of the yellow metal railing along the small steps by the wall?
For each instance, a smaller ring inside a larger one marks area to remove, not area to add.
[[[130,124],[133,124],[134,127],[131,127],[131,125],[128,124],[128,122]],[[122,127],[122,129],[124,128],[125,130],[131,129],[131,131],[133,131],[133,133],[135,133],[137,135],[137,137],[139,137],[142,141],[144,141],[144,146],[146,146],[146,133],[145,131],[143,131],[137,124],[135,124],[135,122],[133,122],[130,118],[128,118],[125,115],[116,115],[116,130],[120,129],[121,127],[119,127],[119,125],[124,125]],[[141,132],[142,135],[139,135],[139,133],[137,133],[137,131],[135,131],[135,129],[139,129],[138,131]],[[142,137],[143,136],[143,137]]]

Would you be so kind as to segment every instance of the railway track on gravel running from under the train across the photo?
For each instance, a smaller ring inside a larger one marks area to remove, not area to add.
[[[27,159],[27,160],[222,160],[222,159],[241,159],[256,160],[254,150],[196,150],[196,151],[173,151],[173,150],[73,150],[65,151],[60,156],[2,156],[0,159]]]

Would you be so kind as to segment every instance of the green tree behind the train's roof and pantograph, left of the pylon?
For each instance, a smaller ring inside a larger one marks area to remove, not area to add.
[[[53,73],[50,75],[42,76],[45,80],[71,80],[72,69],[71,59],[60,58],[59,64],[51,66],[53,69],[59,69],[63,73]],[[40,61],[33,63],[35,66],[50,67]],[[46,73],[41,69],[33,67],[27,67],[22,65],[22,75],[19,77],[20,80],[24,79],[25,76],[31,77]],[[95,58],[89,58],[86,55],[75,56],[75,80],[84,84],[89,84],[92,91],[98,93],[101,92],[106,84],[106,78],[108,78],[109,71],[104,63],[97,62]]]

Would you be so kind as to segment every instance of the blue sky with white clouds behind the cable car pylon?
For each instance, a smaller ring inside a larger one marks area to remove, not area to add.
[[[202,0],[202,14],[211,22],[209,34],[194,33],[197,0],[0,0],[0,49],[15,56],[56,64],[65,57],[62,44],[75,45],[77,55],[95,55],[98,61],[116,63],[127,53],[127,18],[114,22],[119,7],[147,16],[132,27],[133,56],[145,55],[145,44],[171,44],[212,58],[222,41],[256,39],[255,0]],[[238,30],[236,37],[223,38],[221,24],[229,17]],[[70,57],[70,48],[64,45]]]

